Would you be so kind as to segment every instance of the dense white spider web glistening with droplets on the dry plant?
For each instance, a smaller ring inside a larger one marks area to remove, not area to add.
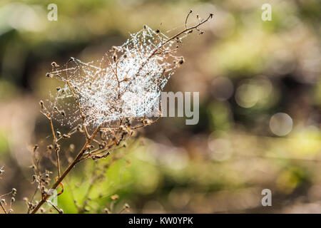
[[[54,68],[53,74],[65,84],[53,95],[51,106],[66,108],[69,124],[80,118],[78,107],[68,101],[74,96],[87,125],[156,115],[161,90],[180,66],[181,58],[173,56],[180,40],[168,41],[148,26],[130,36],[101,60],[83,63],[71,58],[63,68]]]

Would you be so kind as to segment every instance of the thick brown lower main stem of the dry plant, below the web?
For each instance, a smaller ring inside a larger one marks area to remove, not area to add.
[[[63,172],[63,174],[61,175],[61,177],[58,178],[58,180],[54,183],[54,185],[52,185],[51,189],[56,189],[56,187],[58,187],[58,185],[61,183],[61,181],[63,180],[63,178],[66,177],[66,175],[68,175],[68,173],[72,170],[72,168],[76,165],[76,163],[78,162],[78,160],[81,159],[81,156],[83,155],[83,153],[86,151],[88,145],[91,144],[91,142],[93,141],[93,138],[95,138],[95,136],[98,133],[98,130],[101,128],[101,125],[98,126],[98,128],[96,128],[96,130],[93,132],[93,134],[91,135],[91,137],[86,141],[85,145],[83,145],[83,148],[80,150],[80,152],[78,153],[78,155],[75,157],[75,159],[68,165],[68,167],[66,168],[66,170]],[[37,206],[35,207],[35,209],[31,212],[31,214],[35,214],[39,208],[42,206],[42,204],[44,204],[46,202],[46,200],[49,198],[49,195],[45,195],[41,201],[39,202],[39,204],[37,204]]]

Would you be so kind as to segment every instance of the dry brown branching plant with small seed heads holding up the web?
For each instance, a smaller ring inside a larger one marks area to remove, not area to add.
[[[139,66],[138,70],[134,73],[133,77],[131,78],[132,80],[128,83],[128,85],[124,88],[124,90],[122,92],[120,91],[120,83],[122,81],[119,81],[119,78],[118,78],[118,59],[117,59],[117,56],[116,56],[116,52],[114,53],[115,56],[113,56],[113,61],[116,64],[115,67],[113,66],[113,64],[111,63],[111,61],[108,58],[108,63],[111,66],[111,70],[113,71],[113,74],[115,75],[116,81],[118,83],[118,87],[116,88],[116,90],[118,90],[118,99],[121,98],[123,93],[125,93],[126,90],[128,90],[128,88],[130,88],[130,86],[133,83],[133,81],[135,80],[135,78],[137,78],[140,75],[140,73],[143,70],[144,66],[146,66],[148,61],[151,61],[151,58],[153,58],[153,56],[156,56],[156,55],[162,54],[162,53],[163,54],[167,54],[167,53],[171,52],[171,51],[164,51],[164,46],[166,44],[170,43],[170,41],[173,41],[174,39],[177,39],[177,41],[179,43],[180,42],[180,35],[182,35],[183,33],[190,33],[191,31],[193,31],[193,29],[195,29],[197,31],[200,31],[200,29],[198,27],[201,26],[202,24],[205,24],[205,22],[208,21],[209,19],[213,18],[213,14],[210,14],[207,19],[205,19],[205,20],[199,20],[198,19],[198,24],[196,24],[195,26],[188,27],[187,26],[188,17],[190,16],[191,13],[192,13],[192,11],[190,11],[190,13],[188,14],[188,16],[185,19],[185,29],[183,29],[183,31],[180,31],[175,36],[167,38],[165,41],[163,41],[163,38],[161,38],[161,43],[159,45],[155,46],[155,49],[153,49],[151,54],[147,56],[146,60],[143,61],[143,63],[140,63],[140,66]],[[156,32],[156,33],[159,33],[159,31]],[[203,31],[200,31],[200,34],[202,34],[202,33],[203,33]],[[175,50],[173,50],[173,51],[175,51]],[[71,60],[75,61],[74,58],[71,58]],[[81,63],[81,64],[83,64],[85,66],[90,66],[90,67],[93,67],[93,68],[97,68],[96,66],[91,66],[88,63]],[[56,65],[56,63],[55,63],[55,65]],[[56,68],[54,68],[54,69],[56,70]],[[49,76],[51,76],[51,77],[52,76],[57,76],[61,81],[66,83],[68,88],[71,90],[73,98],[75,98],[76,105],[78,106],[79,112],[81,114],[83,133],[86,136],[86,143],[83,145],[82,149],[78,152],[78,155],[76,155],[76,157],[73,159],[73,161],[69,163],[69,165],[66,168],[66,170],[61,174],[61,172],[60,172],[60,161],[59,161],[59,149],[60,148],[59,148],[59,145],[58,145],[58,140],[60,140],[61,137],[60,138],[56,137],[55,130],[54,130],[54,125],[53,125],[53,121],[52,121],[52,116],[51,116],[50,113],[44,113],[43,112],[44,106],[43,106],[43,103],[41,104],[41,107],[42,107],[41,113],[46,115],[46,118],[48,118],[50,120],[50,123],[51,123],[51,131],[52,131],[52,134],[53,134],[53,137],[54,137],[54,150],[56,151],[56,159],[57,159],[57,167],[58,167],[58,178],[56,179],[56,182],[54,182],[54,185],[52,185],[52,187],[51,187],[52,190],[55,190],[56,187],[58,187],[58,185],[61,184],[63,179],[66,177],[66,175],[68,175],[68,173],[72,170],[72,168],[78,162],[80,162],[81,160],[86,160],[86,159],[88,159],[90,157],[93,158],[93,160],[96,160],[96,159],[102,158],[102,157],[107,157],[109,155],[108,150],[111,147],[113,147],[113,145],[116,145],[116,146],[119,145],[119,143],[123,140],[124,135],[128,134],[128,130],[141,128],[141,127],[146,126],[146,125],[151,125],[151,123],[154,123],[154,122],[156,122],[158,120],[158,119],[156,121],[145,120],[145,116],[144,116],[144,118],[141,120],[143,125],[138,125],[138,126],[135,126],[135,127],[127,127],[127,130],[125,130],[126,134],[123,134],[123,133],[120,134],[120,133],[117,133],[117,132],[116,133],[115,132],[111,132],[113,134],[111,136],[114,139],[111,140],[108,143],[107,146],[105,145],[105,147],[99,148],[98,150],[93,150],[91,152],[88,152],[88,154],[87,154],[86,150],[89,147],[91,147],[91,143],[92,142],[97,142],[99,144],[99,142],[97,140],[95,140],[95,137],[96,137],[97,133],[101,130],[101,127],[103,126],[103,124],[98,125],[96,130],[94,130],[91,135],[88,133],[88,129],[87,129],[87,126],[86,126],[86,121],[85,121],[86,120],[86,115],[84,113],[85,110],[83,110],[83,107],[81,106],[81,103],[79,101],[78,95],[76,95],[78,87],[74,86],[73,82],[68,80],[68,76],[66,76],[66,78],[63,78],[63,77],[61,77],[59,75],[60,72],[68,71],[70,69],[73,69],[73,68],[69,68],[69,69],[61,70],[61,71],[54,71],[54,72],[51,72],[51,75],[49,74]],[[101,68],[97,68],[97,70],[100,71]],[[55,73],[55,75],[52,75],[52,73]],[[126,80],[124,79],[123,81],[126,81]],[[64,113],[61,113],[61,114],[64,115]],[[120,128],[120,129],[123,130],[123,128]],[[115,130],[117,130],[117,129],[115,129]],[[92,152],[95,152],[95,153],[92,154]],[[38,162],[38,161],[36,161],[36,162]],[[39,170],[37,170],[37,171],[39,172]],[[42,185],[41,182],[40,182],[40,185]],[[88,192],[90,192],[90,190],[91,190],[91,187],[88,189]],[[36,207],[31,211],[31,214],[35,214],[41,208],[41,205],[43,205],[45,202],[47,202],[47,199],[49,198],[49,196],[50,195],[48,195],[45,191],[41,192],[41,201],[38,204],[36,204]],[[51,203],[49,203],[49,204],[51,204]],[[86,206],[86,202],[83,205]],[[2,204],[1,204],[1,207],[2,207]],[[128,207],[124,207],[124,209],[126,209],[126,208],[128,208]],[[56,207],[54,207],[54,209],[56,209],[58,212],[61,212],[61,210],[59,210]],[[121,212],[123,212],[124,209],[122,209]]]

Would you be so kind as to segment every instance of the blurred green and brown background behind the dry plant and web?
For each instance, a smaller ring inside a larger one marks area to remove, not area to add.
[[[47,20],[51,3],[58,21]],[[261,19],[265,3],[272,21]],[[320,1],[2,0],[0,193],[16,187],[15,212],[26,212],[21,199],[36,187],[30,148],[50,140],[38,103],[56,88],[45,77],[50,63],[99,59],[144,24],[177,33],[190,9],[194,21],[214,20],[185,39],[185,64],[165,90],[200,92],[198,125],[163,118],[114,157],[78,165],[58,206],[81,212],[76,199],[91,213],[124,203],[138,213],[321,212]],[[265,188],[272,207],[261,204]]]

